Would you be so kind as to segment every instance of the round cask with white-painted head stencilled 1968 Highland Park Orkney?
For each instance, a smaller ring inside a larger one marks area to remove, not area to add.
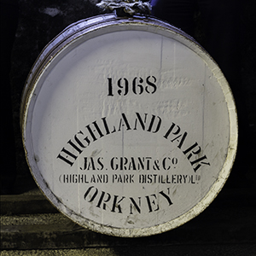
[[[193,38],[152,17],[68,26],[32,67],[21,125],[48,200],[112,236],[185,224],[218,195],[236,156],[223,73]]]

